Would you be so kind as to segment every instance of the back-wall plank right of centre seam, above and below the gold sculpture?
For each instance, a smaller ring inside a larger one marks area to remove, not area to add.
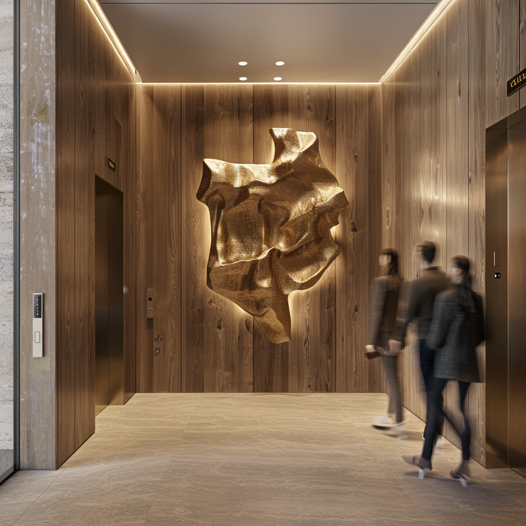
[[[254,86],[253,162],[271,163],[274,143],[270,128],[289,126],[289,87]],[[288,392],[289,343],[272,343],[254,323],[254,392]]]

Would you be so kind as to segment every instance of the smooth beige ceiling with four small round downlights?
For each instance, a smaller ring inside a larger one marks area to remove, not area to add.
[[[378,82],[437,0],[101,3],[143,82]],[[239,66],[246,60],[247,66]],[[284,66],[276,66],[283,60]]]

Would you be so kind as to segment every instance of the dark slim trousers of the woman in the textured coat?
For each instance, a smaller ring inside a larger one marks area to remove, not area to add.
[[[428,391],[428,403],[427,403],[427,423],[426,429],[424,430],[424,448],[422,450],[422,457],[427,460],[431,460],[433,454],[434,439],[440,429],[441,423],[444,421],[444,411],[442,409],[442,391],[448,383],[447,378],[432,378],[430,381],[430,389]],[[453,421],[456,419],[449,419],[453,425],[454,430],[460,437],[462,443],[462,458],[469,460],[469,444],[471,442],[471,430],[469,428],[469,420],[464,413],[464,400],[468,393],[469,382],[458,382],[459,393],[460,393],[460,412],[464,420],[464,429],[459,430],[454,425]]]

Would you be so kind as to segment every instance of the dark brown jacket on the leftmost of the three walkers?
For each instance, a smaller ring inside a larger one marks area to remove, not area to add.
[[[387,341],[395,328],[401,282],[395,276],[381,276],[372,280],[369,296],[369,345],[387,347]]]

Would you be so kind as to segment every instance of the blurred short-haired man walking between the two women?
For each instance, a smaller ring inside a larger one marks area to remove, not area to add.
[[[423,241],[414,248],[415,256],[420,262],[422,271],[417,279],[412,280],[406,286],[404,296],[407,298],[403,302],[404,311],[398,313],[397,324],[389,341],[389,348],[392,352],[400,352],[401,347],[406,345],[409,323],[417,320],[420,370],[422,371],[426,393],[429,393],[435,350],[426,345],[426,339],[431,325],[434,300],[439,292],[448,288],[450,280],[445,272],[432,265],[436,255],[436,246],[432,241]],[[437,447],[440,447],[439,437]]]

